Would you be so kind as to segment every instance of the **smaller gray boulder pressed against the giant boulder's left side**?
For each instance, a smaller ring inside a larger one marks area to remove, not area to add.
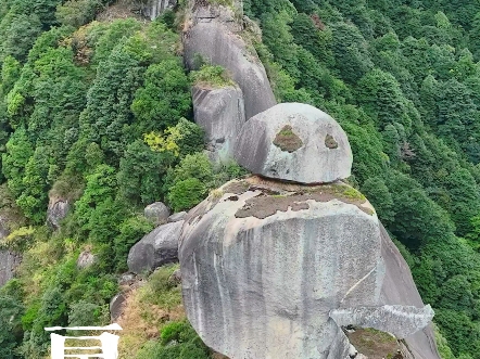
[[[140,274],[177,261],[178,239],[182,227],[182,220],[167,223],[155,228],[143,236],[130,248],[127,259],[128,270]]]

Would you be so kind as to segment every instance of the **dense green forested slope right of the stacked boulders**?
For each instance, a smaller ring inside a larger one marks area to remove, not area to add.
[[[400,241],[443,348],[477,357],[480,5],[245,0],[244,11],[277,99],[313,104],[348,132],[350,182]]]

